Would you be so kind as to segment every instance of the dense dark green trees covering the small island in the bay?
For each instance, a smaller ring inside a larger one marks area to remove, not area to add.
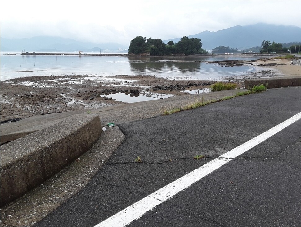
[[[137,36],[130,42],[128,54],[152,56],[208,54],[202,49],[202,45],[201,39],[188,38],[188,36],[184,36],[177,43],[169,41],[167,44],[164,44],[161,39]]]

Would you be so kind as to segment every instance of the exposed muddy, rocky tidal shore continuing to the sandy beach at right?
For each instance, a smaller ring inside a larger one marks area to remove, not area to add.
[[[245,78],[301,76],[301,66],[290,60],[261,59],[243,62],[258,69],[227,81],[244,87]],[[239,66],[233,66],[239,67]],[[154,100],[189,95],[185,90],[203,91],[216,81],[168,80],[155,76],[29,76],[1,81],[1,122],[35,115],[78,109],[93,109],[124,102],[109,96],[127,95]],[[156,88],[157,86],[157,88]],[[158,88],[158,86],[161,86]],[[169,87],[168,87],[169,86]],[[166,89],[164,89],[164,87]],[[126,101],[125,101],[126,102]]]

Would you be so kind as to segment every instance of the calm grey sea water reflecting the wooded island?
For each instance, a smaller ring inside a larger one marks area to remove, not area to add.
[[[154,75],[169,79],[220,79],[231,75],[246,75],[248,72],[253,72],[254,68],[249,66],[221,67],[217,64],[206,64],[204,61],[259,58],[252,56],[121,57],[116,55],[100,57],[3,54],[5,53],[1,52],[1,81],[41,75]]]

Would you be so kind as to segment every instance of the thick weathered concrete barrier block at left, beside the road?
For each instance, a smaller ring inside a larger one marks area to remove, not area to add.
[[[1,146],[1,206],[56,174],[101,135],[98,115],[78,114]]]

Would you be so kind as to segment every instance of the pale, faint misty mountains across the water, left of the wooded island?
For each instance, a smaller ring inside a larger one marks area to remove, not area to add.
[[[91,43],[91,42],[79,42],[74,39],[66,39],[61,37],[51,36],[35,36],[30,39],[6,39],[0,40],[1,51],[95,51],[99,52],[99,49],[109,50],[111,52],[121,49],[128,49],[128,47],[118,43]]]

